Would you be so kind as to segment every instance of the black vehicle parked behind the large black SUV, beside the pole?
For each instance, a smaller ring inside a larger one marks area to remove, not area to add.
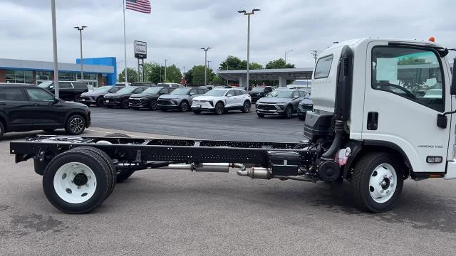
[[[54,81],[41,82],[38,86],[52,92],[54,95],[56,94]],[[62,100],[73,100],[74,102],[79,102],[83,92],[88,92],[86,82],[58,81],[58,97]]]

